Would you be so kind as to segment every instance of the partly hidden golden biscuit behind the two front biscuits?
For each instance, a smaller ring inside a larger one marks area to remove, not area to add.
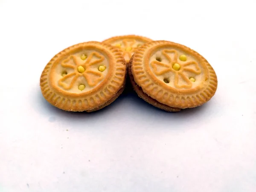
[[[119,48],[123,53],[125,61],[128,63],[136,49],[150,41],[152,40],[138,35],[123,35],[106,39],[103,43]]]

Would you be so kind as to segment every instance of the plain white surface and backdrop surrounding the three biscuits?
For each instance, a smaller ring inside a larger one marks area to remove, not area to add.
[[[256,192],[255,0],[0,0],[0,192]],[[184,44],[218,76],[199,108],[126,91],[95,113],[49,105],[62,49],[116,35]]]

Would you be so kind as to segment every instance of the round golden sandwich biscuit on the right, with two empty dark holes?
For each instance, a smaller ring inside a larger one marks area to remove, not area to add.
[[[144,44],[134,53],[129,67],[134,89],[141,87],[143,96],[154,99],[157,101],[154,106],[164,110],[163,106],[178,111],[177,108],[203,105],[217,89],[217,76],[208,61],[194,50],[173,42]]]

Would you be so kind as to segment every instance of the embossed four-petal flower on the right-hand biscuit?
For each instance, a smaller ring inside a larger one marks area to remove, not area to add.
[[[173,57],[171,58],[169,54],[172,54]],[[199,75],[201,73],[201,69],[197,62],[195,61],[178,61],[178,53],[175,49],[163,49],[161,51],[161,55],[163,55],[168,61],[168,64],[165,64],[160,61],[152,61],[151,66],[153,68],[153,72],[156,75],[165,75],[166,73],[172,72],[175,75],[174,78],[174,85],[177,88],[191,88],[192,82],[189,80],[189,77],[187,77],[183,72],[188,71],[191,73],[194,73],[195,75]],[[179,64],[180,69],[174,70],[172,66],[174,64]],[[158,68],[160,70],[158,70]],[[183,80],[183,82],[180,82],[180,79]],[[184,83],[185,82],[185,83]]]

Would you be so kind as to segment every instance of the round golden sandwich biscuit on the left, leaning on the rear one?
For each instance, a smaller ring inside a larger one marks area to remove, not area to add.
[[[115,47],[96,41],[55,55],[41,74],[44,98],[65,111],[96,111],[124,90],[125,59]]]

